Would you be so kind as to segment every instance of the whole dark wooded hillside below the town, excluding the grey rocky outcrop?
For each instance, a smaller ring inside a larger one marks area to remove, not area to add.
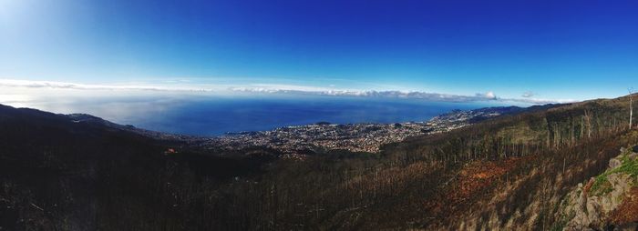
[[[603,174],[620,147],[638,144],[627,105],[621,97],[537,107],[407,138],[376,155],[303,161],[259,147],[220,155],[77,116],[0,106],[0,226],[561,229],[561,201]]]

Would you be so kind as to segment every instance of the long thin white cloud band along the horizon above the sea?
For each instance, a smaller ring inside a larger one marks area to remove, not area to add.
[[[158,84],[107,84],[87,85],[54,81],[31,81],[0,79],[0,89],[58,89],[58,90],[91,90],[91,91],[144,91],[144,92],[174,92],[174,93],[212,93],[212,94],[292,94],[292,95],[328,95],[328,96],[356,96],[356,97],[386,97],[421,99],[432,102],[503,102],[529,105],[564,104],[573,103],[573,99],[543,99],[533,98],[527,93],[524,98],[503,98],[489,91],[474,95],[454,95],[444,93],[432,93],[425,91],[399,91],[399,90],[353,90],[338,89],[334,87],[316,87],[308,85],[158,85]],[[30,93],[34,94],[34,93]],[[2,97],[3,95],[0,95]],[[0,98],[0,103],[5,99]]]

